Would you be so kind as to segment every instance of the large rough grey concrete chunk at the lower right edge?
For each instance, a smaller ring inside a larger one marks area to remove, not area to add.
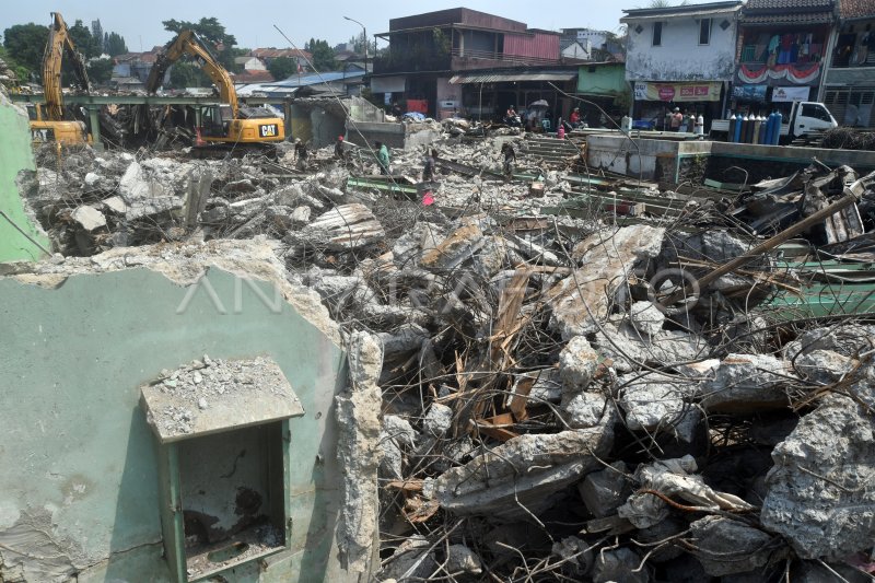
[[[840,559],[872,548],[875,420],[871,412],[849,397],[827,397],[773,450],[772,459],[760,516],[767,528],[786,538],[804,559]]]

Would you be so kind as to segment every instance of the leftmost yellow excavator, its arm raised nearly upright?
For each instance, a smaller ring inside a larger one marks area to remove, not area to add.
[[[45,108],[36,105],[32,112],[31,135],[34,143],[57,142],[59,145],[81,144],[90,141],[85,124],[65,120],[63,94],[61,93],[61,63],[65,54],[73,66],[73,72],[82,91],[91,93],[91,82],[85,70],[85,59],[70,39],[67,23],[60,13],[51,13],[48,43],[43,55],[43,94]]]

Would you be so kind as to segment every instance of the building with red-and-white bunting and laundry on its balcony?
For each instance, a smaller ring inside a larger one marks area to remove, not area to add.
[[[788,114],[794,101],[817,100],[836,10],[835,0],[748,0],[730,108]]]

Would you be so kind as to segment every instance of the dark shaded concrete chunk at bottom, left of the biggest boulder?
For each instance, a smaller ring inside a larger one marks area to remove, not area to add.
[[[692,555],[711,576],[758,571],[780,548],[771,535],[722,516],[700,518],[690,529],[697,547]]]

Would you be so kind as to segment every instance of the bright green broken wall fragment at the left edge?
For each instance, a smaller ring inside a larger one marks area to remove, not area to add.
[[[27,114],[12,105],[0,92],[0,263],[39,260],[48,249],[48,237],[31,223],[24,213],[15,179],[19,172],[35,171],[31,150],[31,128]],[[3,217],[5,214],[5,217]],[[15,229],[10,221],[31,238]],[[33,240],[33,241],[31,241]],[[37,242],[37,243],[34,243]]]

